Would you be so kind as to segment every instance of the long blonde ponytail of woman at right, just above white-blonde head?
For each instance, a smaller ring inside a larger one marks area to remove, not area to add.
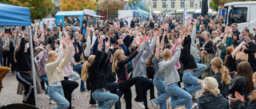
[[[222,74],[222,81],[224,81],[226,85],[230,84],[231,77],[230,72],[227,70],[226,66],[223,65],[223,61],[219,57],[215,57],[211,60],[212,64],[214,64],[218,69],[220,69],[220,73]]]

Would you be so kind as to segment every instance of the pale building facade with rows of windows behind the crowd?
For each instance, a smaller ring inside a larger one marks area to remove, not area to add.
[[[184,0],[150,0],[153,11],[161,10],[184,10]],[[210,0],[208,0],[210,7]],[[186,10],[201,10],[202,0],[186,0]]]

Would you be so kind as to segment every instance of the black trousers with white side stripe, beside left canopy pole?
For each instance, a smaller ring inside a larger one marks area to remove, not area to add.
[[[23,103],[28,103],[35,106],[34,103],[34,89],[33,86],[33,80],[30,78],[30,73],[27,72],[17,72],[16,79],[19,83],[23,84],[25,87],[25,96],[26,101],[23,101]]]

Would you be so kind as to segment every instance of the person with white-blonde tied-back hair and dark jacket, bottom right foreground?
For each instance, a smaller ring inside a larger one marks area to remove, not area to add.
[[[214,77],[206,77],[202,82],[202,95],[196,100],[198,109],[229,109],[229,102],[218,90]],[[193,108],[194,109],[194,108]]]

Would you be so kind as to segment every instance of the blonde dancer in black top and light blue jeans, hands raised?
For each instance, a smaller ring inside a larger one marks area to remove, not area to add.
[[[102,56],[102,37],[98,37],[98,52],[96,56],[91,55],[89,56],[88,60],[84,64],[82,68],[82,74],[85,74],[86,78],[82,78],[83,80],[87,79],[90,76],[90,84],[91,84],[91,91],[92,97],[98,101],[98,108],[106,108],[110,109],[114,106],[114,103],[118,101],[118,95],[104,92],[103,88],[106,87],[106,80],[102,74],[102,67],[103,64],[106,62],[106,58],[101,60]],[[110,40],[105,43],[106,52],[110,47]],[[106,52],[103,55],[106,55]]]

